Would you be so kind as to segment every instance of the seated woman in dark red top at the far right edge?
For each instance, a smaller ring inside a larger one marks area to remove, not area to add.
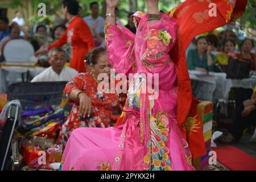
[[[251,53],[254,48],[253,39],[245,39],[242,42],[241,53],[238,53],[236,56],[243,59],[251,60],[251,70],[256,70],[256,57],[255,53]]]

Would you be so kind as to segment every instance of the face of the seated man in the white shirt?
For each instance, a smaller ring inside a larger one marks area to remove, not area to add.
[[[53,51],[48,57],[48,62],[51,64],[54,71],[61,71],[66,61],[65,52],[62,51]]]

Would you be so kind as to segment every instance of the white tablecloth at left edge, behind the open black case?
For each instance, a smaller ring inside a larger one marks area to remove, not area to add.
[[[44,69],[42,67],[1,67],[0,68],[0,93],[6,93],[7,88],[13,82],[20,82],[21,73],[26,73],[30,71],[30,75],[32,77],[38,75],[43,72]]]

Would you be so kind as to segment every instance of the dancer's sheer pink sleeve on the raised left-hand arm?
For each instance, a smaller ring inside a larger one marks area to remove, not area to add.
[[[105,42],[108,61],[117,73],[127,73],[135,63],[134,59],[135,35],[126,27],[105,23]]]

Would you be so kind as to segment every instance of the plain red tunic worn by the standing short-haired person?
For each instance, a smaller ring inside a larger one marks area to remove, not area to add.
[[[61,38],[51,46],[48,46],[47,49],[49,51],[53,47],[61,47],[67,42],[72,47],[70,67],[76,69],[79,73],[86,72],[84,59],[95,44],[90,28],[79,16],[71,19],[67,30]]]

